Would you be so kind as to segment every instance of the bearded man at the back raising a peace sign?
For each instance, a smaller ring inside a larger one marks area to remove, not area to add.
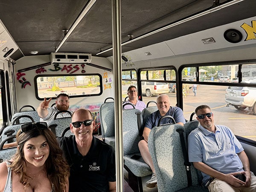
[[[49,103],[52,100],[50,98],[48,101],[44,98],[44,101],[40,103],[39,107],[37,108],[38,115],[41,117],[41,121],[49,122],[50,120],[54,119],[55,114],[58,111],[70,111],[69,108],[69,95],[66,93],[60,93],[56,97],[55,106],[49,107]],[[72,111],[70,111],[73,113]],[[69,117],[70,113],[60,113],[58,114],[57,118]]]

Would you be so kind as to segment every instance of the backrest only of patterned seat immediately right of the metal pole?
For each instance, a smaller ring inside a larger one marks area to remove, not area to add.
[[[123,149],[124,155],[139,153],[138,143],[140,141],[138,129],[138,116],[141,113],[138,109],[123,110]],[[142,123],[142,116],[139,119]]]

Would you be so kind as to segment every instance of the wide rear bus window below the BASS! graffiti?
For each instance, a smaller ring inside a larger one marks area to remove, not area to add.
[[[59,93],[69,96],[97,96],[102,93],[102,78],[98,74],[76,76],[36,76],[37,97],[55,97]]]

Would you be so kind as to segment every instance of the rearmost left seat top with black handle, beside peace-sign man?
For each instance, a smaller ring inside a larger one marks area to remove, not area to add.
[[[24,109],[24,108],[32,108],[32,110],[22,111],[22,109]],[[35,110],[35,108],[31,105],[24,105],[19,109],[19,111],[17,113],[15,113],[12,116],[11,122],[13,122],[16,117],[23,116],[23,115],[31,116],[34,119],[35,122],[40,121],[40,117],[38,116],[38,112]],[[16,121],[15,124],[30,122],[28,118],[19,118],[19,119],[16,119],[15,121]]]

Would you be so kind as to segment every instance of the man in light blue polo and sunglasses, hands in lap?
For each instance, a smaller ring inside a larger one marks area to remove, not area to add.
[[[256,177],[244,149],[233,132],[214,125],[207,105],[195,109],[200,126],[188,137],[189,161],[203,175],[203,186],[210,192],[255,192]]]

